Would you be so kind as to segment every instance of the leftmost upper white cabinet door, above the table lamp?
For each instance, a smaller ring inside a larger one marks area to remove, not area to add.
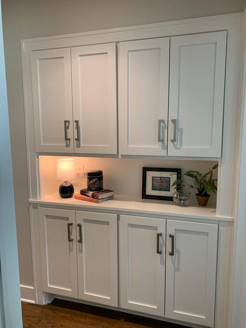
[[[73,153],[70,48],[31,53],[36,152]]]

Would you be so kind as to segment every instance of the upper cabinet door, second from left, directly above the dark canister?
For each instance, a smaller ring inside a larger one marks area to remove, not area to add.
[[[117,154],[116,45],[71,51],[75,153]]]

